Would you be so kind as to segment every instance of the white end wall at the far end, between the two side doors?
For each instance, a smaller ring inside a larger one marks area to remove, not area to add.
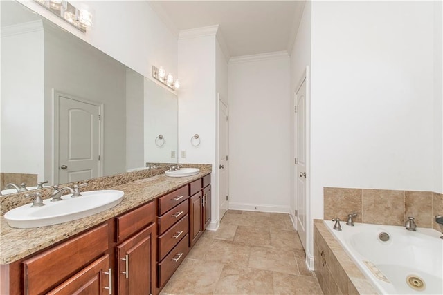
[[[230,60],[230,209],[289,213],[289,64],[289,55]]]

